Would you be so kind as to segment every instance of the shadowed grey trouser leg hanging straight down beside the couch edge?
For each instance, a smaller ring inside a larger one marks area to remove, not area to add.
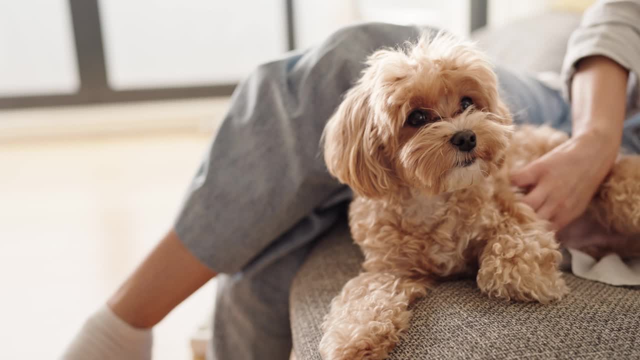
[[[310,215],[243,271],[218,279],[209,359],[289,358],[289,288],[312,247],[305,241],[344,217],[346,204]]]

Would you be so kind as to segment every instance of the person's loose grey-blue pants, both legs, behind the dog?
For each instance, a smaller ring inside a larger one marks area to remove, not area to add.
[[[324,124],[368,54],[419,32],[388,24],[345,28],[304,53],[261,65],[237,88],[175,224],[186,247],[225,274],[211,359],[288,359],[291,281],[351,198],[324,167]],[[570,129],[569,108],[556,90],[496,72],[516,122]]]

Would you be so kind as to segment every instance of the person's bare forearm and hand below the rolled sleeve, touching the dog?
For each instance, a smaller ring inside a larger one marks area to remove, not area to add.
[[[572,138],[512,177],[517,186],[533,186],[523,201],[554,229],[584,213],[618,156],[627,78],[626,69],[604,56],[580,61],[572,85]]]

